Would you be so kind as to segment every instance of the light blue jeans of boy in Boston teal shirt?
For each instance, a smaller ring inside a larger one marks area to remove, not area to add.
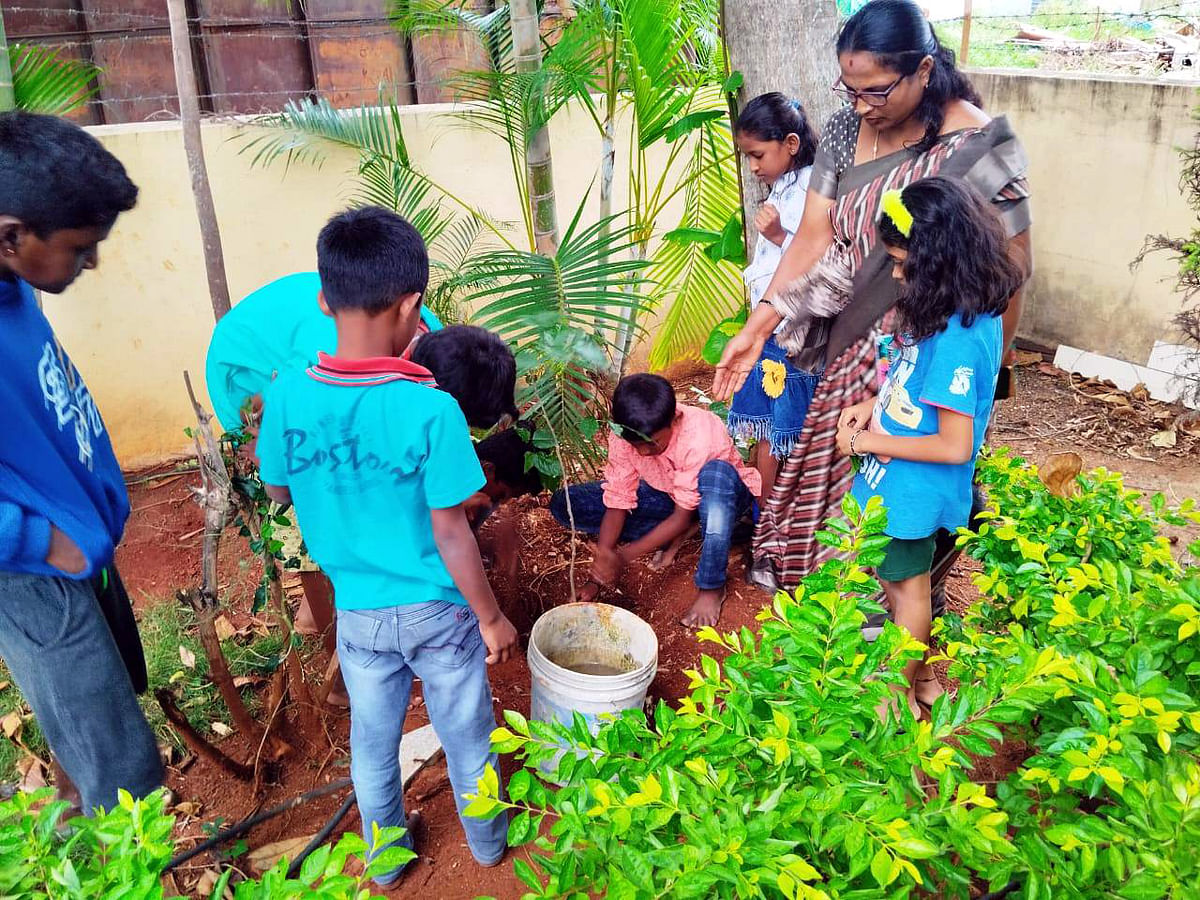
[[[467,818],[464,793],[475,793],[488,764],[496,727],[487,650],[479,619],[467,606],[445,600],[380,610],[337,611],[337,658],[350,695],[350,778],[371,842],[371,823],[404,827],[400,738],[413,677],[421,679],[430,721],[446,754],[450,785],[472,856],[492,865],[508,846],[508,817]],[[412,847],[412,835],[401,840]],[[383,847],[373,848],[378,852]],[[401,870],[377,878],[390,884]]]

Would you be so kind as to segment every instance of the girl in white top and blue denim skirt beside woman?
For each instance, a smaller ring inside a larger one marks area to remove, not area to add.
[[[804,108],[779,92],[762,94],[746,103],[734,138],[750,170],[770,188],[755,216],[758,241],[745,270],[754,310],[800,227],[817,140]],[[763,497],[775,482],[779,460],[787,456],[804,430],[820,380],[820,372],[803,372],[788,362],[773,337],[745,385],[733,395],[730,432],[752,442],[751,461],[762,474]]]

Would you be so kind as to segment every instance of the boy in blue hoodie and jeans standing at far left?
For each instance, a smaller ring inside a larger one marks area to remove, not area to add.
[[[34,288],[58,294],[95,269],[137,192],[82,128],[0,114],[0,656],[85,811],[115,806],[118,788],[150,793],[162,763],[131,680],[144,688],[144,668],[125,661],[140,662],[127,600],[121,647],[102,607],[121,593],[125,480]]]

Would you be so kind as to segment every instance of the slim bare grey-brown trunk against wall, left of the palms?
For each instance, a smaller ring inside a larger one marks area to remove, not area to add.
[[[217,319],[229,312],[229,286],[226,283],[224,254],[221,250],[221,229],[212,205],[209,170],[204,164],[204,144],[200,139],[200,101],[192,66],[192,42],[187,32],[187,12],[184,0],[167,0],[170,17],[170,49],[175,58],[175,90],[179,94],[179,118],[184,124],[184,150],[187,172],[192,178],[196,216],[200,220],[204,242],[204,269],[209,278],[209,298]]]

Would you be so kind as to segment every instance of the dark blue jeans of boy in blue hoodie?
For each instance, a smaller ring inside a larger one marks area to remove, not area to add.
[[[0,656],[83,810],[162,784],[154,732],[90,581],[0,572]]]

